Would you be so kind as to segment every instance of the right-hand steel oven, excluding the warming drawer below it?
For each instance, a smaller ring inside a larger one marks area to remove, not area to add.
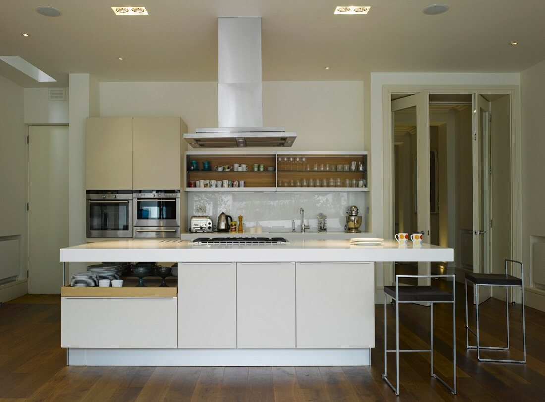
[[[134,227],[180,227],[180,190],[135,190]]]

